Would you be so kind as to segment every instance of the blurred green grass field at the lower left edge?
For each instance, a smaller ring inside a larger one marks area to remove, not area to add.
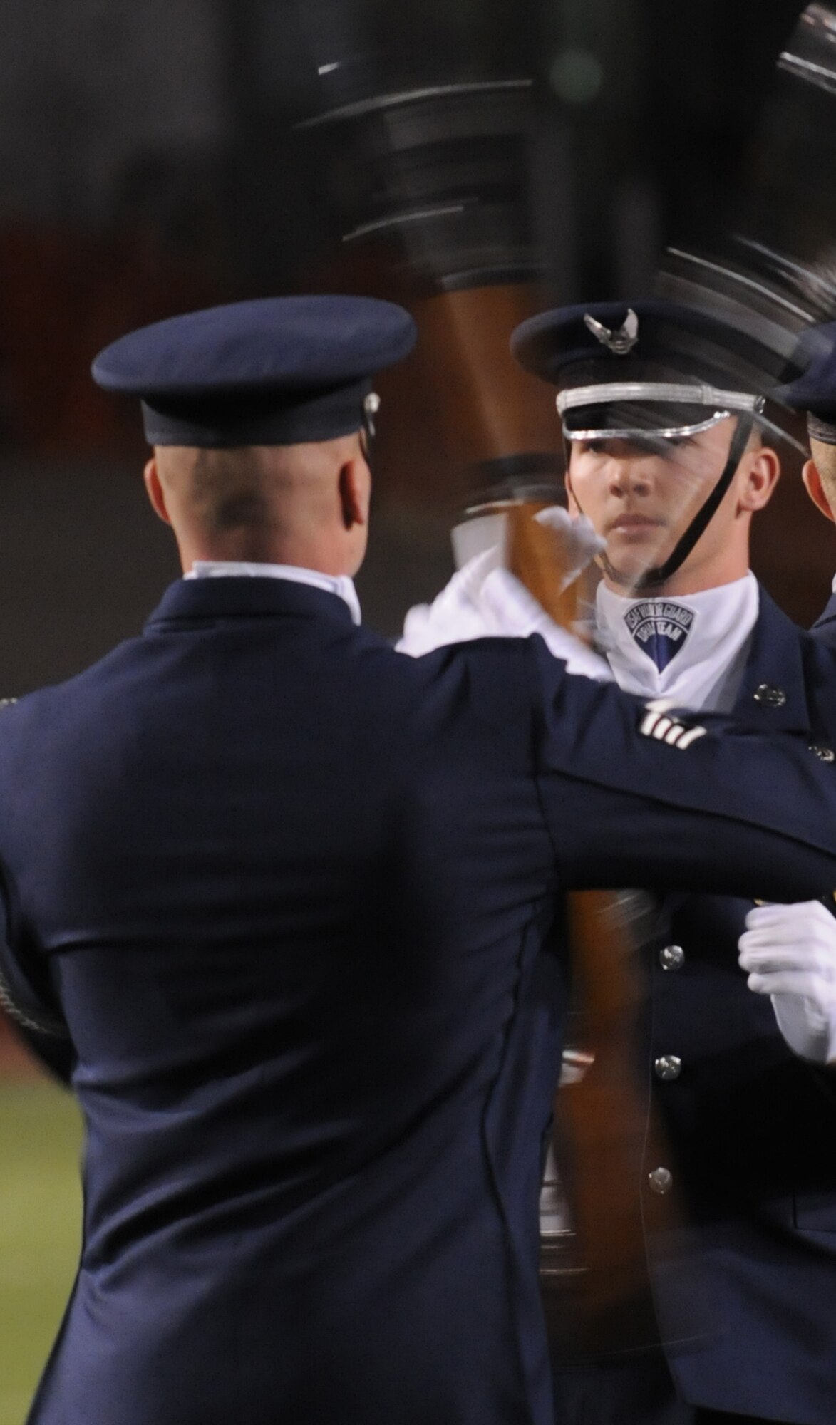
[[[81,1124],[68,1093],[0,1080],[0,1425],[21,1425],[76,1265]]]

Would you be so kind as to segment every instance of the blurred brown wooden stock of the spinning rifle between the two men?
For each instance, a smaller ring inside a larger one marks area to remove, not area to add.
[[[441,439],[462,466],[504,450],[554,445],[552,400],[508,355],[509,331],[532,311],[535,295],[522,286],[452,291],[422,305],[419,352],[432,369],[434,392],[444,395]],[[488,494],[471,513],[506,514],[508,567],[556,623],[572,627],[578,586],[559,593],[561,542],[532,520],[546,502],[505,496],[506,490],[498,492],[491,509]],[[574,1233],[569,1253],[558,1253],[555,1274],[544,1268],[541,1280],[549,1331],[565,1355],[623,1351],[656,1340],[642,1200],[645,1153],[652,1166],[666,1157],[651,1146],[658,1134],[649,1092],[642,1093],[638,1077],[635,1033],[643,988],[626,901],[618,892],[575,892],[568,906],[579,1039],[592,1063],[555,1096],[558,1166]],[[655,1200],[656,1220],[663,1206]]]

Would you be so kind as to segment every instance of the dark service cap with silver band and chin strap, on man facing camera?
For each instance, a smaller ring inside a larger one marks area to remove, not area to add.
[[[766,392],[786,375],[783,358],[702,308],[662,299],[555,308],[522,322],[511,351],[525,370],[558,388],[568,443],[655,445],[738,418],[726,465],[702,509],[636,589],[663,583],[688,557],[732,482],[752,428],[785,435],[765,410]]]

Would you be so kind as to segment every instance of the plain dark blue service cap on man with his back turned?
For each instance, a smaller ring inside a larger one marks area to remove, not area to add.
[[[128,332],[91,370],[104,390],[141,399],[150,445],[297,445],[360,430],[374,373],[414,345],[394,302],[272,296]]]

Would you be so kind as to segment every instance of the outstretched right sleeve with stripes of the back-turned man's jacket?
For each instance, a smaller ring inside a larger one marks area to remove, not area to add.
[[[646,704],[571,677],[529,640],[536,775],[568,886],[702,888],[772,901],[836,885],[836,770],[803,737],[685,714],[686,748],[642,734]]]

